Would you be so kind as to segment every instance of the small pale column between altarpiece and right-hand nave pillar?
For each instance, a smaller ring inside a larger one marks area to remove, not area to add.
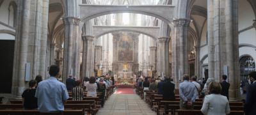
[[[156,70],[156,50],[157,47],[152,46],[149,47],[150,49],[150,60],[149,60],[149,65],[152,66],[152,71]]]

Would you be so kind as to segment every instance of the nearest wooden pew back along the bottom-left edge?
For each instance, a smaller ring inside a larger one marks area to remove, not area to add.
[[[40,115],[38,110],[0,110],[1,115]],[[77,114],[84,115],[84,111],[81,110],[64,110],[64,115]]]

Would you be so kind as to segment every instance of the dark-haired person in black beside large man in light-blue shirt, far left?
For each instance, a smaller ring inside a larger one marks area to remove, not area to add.
[[[36,81],[29,81],[29,88],[22,93],[22,104],[24,109],[37,109]]]

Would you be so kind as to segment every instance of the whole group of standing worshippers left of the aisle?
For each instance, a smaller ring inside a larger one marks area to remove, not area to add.
[[[29,81],[29,88],[22,93],[22,104],[24,109],[38,109],[40,113],[62,114],[65,102],[70,98],[68,92],[72,93],[73,101],[81,101],[84,96],[97,97],[101,100],[103,107],[106,100],[106,90],[115,85],[114,77],[108,74],[100,77],[84,77],[83,81],[76,80],[71,75],[66,79],[66,84],[59,81],[60,69],[56,65],[49,68],[49,79],[42,79],[37,75],[35,80]],[[84,95],[86,92],[86,95]]]

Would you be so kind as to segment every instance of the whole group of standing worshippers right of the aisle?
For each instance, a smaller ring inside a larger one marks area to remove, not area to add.
[[[246,115],[256,114],[256,72],[249,74],[248,88],[244,102],[244,113]],[[227,75],[221,76],[221,82],[213,78],[199,79],[196,76],[183,75],[183,82],[179,83],[180,110],[193,110],[194,103],[202,99],[202,114],[221,115],[230,114],[229,88]],[[171,77],[138,77],[136,80],[137,90],[143,90],[146,100],[147,93],[162,95],[164,101],[175,101],[175,83]],[[140,94],[139,94],[140,95]],[[150,97],[149,97],[150,98]],[[150,98],[152,101],[152,98]],[[147,102],[147,101],[146,101]],[[239,101],[243,102],[243,100]],[[160,106],[159,106],[160,107]]]

